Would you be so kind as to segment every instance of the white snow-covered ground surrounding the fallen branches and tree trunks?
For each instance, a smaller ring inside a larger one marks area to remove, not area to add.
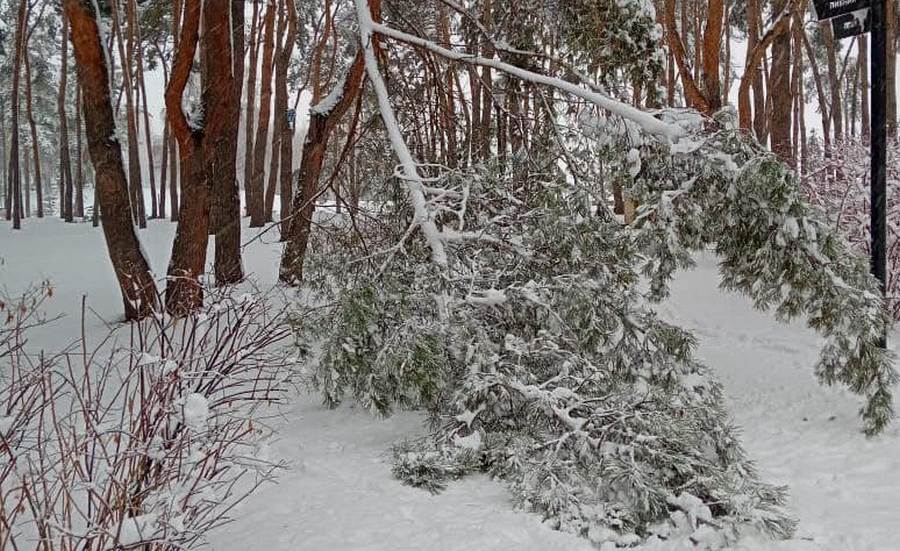
[[[141,232],[158,274],[173,234],[174,225],[161,221]],[[244,241],[252,241],[245,268],[259,284],[272,285],[280,246],[272,236],[251,236],[245,232]],[[858,400],[821,388],[813,378],[817,337],[802,324],[779,324],[742,297],[720,292],[715,258],[698,260],[696,270],[678,275],[660,310],[700,338],[700,356],[725,384],[750,456],[764,479],[790,487],[791,509],[800,520],[795,540],[748,541],[740,549],[900,550],[900,427],[867,440],[859,431]],[[74,340],[83,295],[89,331],[118,319],[120,299],[99,230],[29,219],[14,233],[0,222],[0,287],[16,292],[43,279],[56,291],[48,313],[66,317],[33,335],[32,344],[56,349]],[[211,535],[214,549],[592,549],[543,526],[535,515],[514,511],[502,485],[485,477],[452,484],[437,496],[401,486],[391,477],[386,450],[422,430],[416,414],[379,420],[352,406],[328,411],[315,396],[299,396],[277,424],[280,435],[270,454],[290,469]]]

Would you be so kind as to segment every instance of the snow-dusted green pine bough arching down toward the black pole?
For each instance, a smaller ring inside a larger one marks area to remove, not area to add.
[[[722,286],[782,320],[803,317],[826,338],[816,375],[862,395],[868,434],[893,418],[897,374],[879,346],[890,318],[867,257],[811,205],[791,170],[731,128],[710,131],[699,116],[663,113],[690,131],[674,145],[633,140],[625,164],[641,208],[634,224],[643,273],[664,297],[691,253],[714,247]],[[635,133],[630,133],[634,136]]]

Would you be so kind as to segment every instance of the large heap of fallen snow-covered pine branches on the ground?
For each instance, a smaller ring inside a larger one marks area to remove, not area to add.
[[[432,435],[395,449],[409,484],[489,471],[597,543],[790,534],[783,490],[757,478],[694,338],[643,299],[634,236],[553,162],[517,162],[426,190],[446,270],[399,199],[362,228],[365,250],[318,244],[319,300],[295,318],[324,339],[313,384],[329,403],[428,409]]]

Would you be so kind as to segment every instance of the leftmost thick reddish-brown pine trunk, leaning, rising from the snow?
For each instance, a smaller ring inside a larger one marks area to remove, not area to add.
[[[72,33],[84,99],[88,148],[96,171],[96,195],[103,211],[103,235],[122,291],[126,319],[149,315],[157,305],[156,284],[134,230],[128,181],[116,135],[106,53],[98,14],[88,0],[63,0]]]

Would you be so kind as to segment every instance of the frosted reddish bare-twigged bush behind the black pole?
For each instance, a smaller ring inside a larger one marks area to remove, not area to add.
[[[869,255],[871,235],[869,205],[870,150],[858,138],[845,138],[831,145],[828,155],[821,144],[809,148],[807,172],[801,183],[807,200],[816,205],[861,254]],[[900,319],[900,141],[888,141],[887,216],[888,216],[888,308],[894,320]]]

